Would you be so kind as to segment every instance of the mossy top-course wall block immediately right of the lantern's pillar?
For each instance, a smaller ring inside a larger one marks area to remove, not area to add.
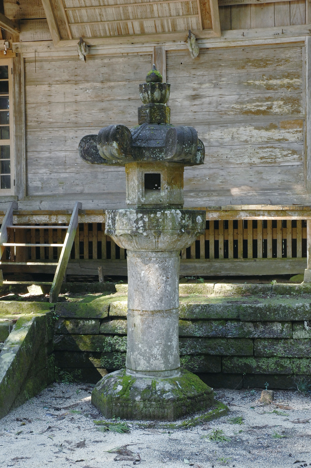
[[[188,320],[225,320],[239,318],[239,304],[190,304],[179,305],[179,318]]]

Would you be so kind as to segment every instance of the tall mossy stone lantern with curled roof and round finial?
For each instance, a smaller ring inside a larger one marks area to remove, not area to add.
[[[180,251],[205,232],[205,212],[183,210],[184,167],[203,164],[193,127],[170,124],[170,84],[153,66],[129,130],[110,125],[79,144],[83,160],[125,166],[126,209],[106,211],[105,234],[126,249],[126,369],[107,374],[92,393],[105,417],[173,420],[213,404],[213,389],[180,368]]]

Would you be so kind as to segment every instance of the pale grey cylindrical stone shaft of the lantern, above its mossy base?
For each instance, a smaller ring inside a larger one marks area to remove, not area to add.
[[[179,251],[127,251],[129,375],[179,375],[179,260]]]

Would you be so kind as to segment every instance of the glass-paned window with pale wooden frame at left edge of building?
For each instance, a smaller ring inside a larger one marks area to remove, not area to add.
[[[14,193],[11,61],[0,60],[0,196]]]

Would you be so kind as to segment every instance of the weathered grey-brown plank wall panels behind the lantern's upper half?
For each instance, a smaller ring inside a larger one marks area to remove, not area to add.
[[[137,124],[138,86],[151,61],[149,54],[93,56],[87,65],[40,59],[35,73],[25,59],[29,201],[125,206],[124,168],[88,165],[77,146],[105,125]],[[166,76],[171,122],[193,125],[206,147],[204,166],[185,168],[186,206],[310,203],[304,44],[201,49],[195,60],[167,51]]]

